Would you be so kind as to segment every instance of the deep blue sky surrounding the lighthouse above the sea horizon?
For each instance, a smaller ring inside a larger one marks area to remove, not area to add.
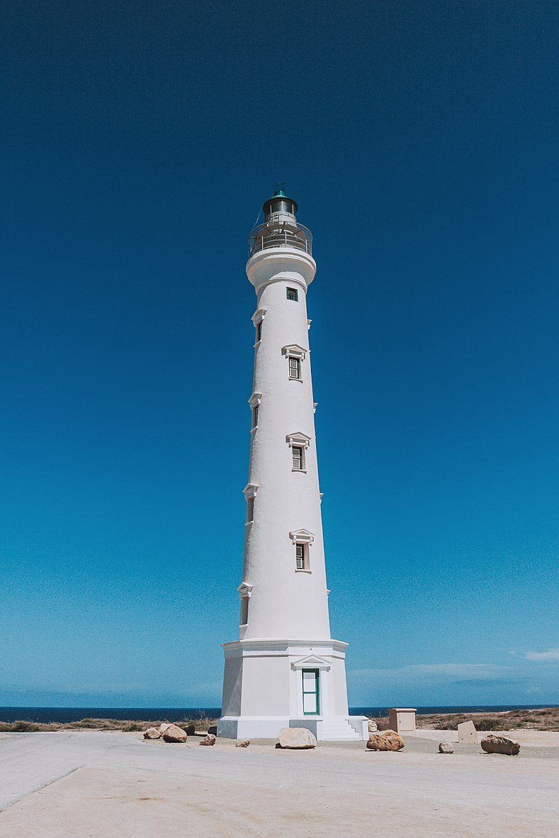
[[[555,0],[3,14],[0,703],[219,705],[278,180],[350,704],[559,703]]]

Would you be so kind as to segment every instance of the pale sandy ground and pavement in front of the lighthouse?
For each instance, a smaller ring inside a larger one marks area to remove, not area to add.
[[[0,838],[556,838],[559,747],[441,755],[421,733],[400,753],[10,734],[0,739]]]

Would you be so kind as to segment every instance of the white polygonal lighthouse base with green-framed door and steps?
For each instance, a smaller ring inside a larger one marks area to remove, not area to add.
[[[218,736],[273,739],[282,727],[306,727],[318,740],[366,740],[366,716],[349,716],[346,647],[339,640],[251,639],[224,644]]]

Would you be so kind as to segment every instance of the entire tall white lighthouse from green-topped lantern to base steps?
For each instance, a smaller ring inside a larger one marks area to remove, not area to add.
[[[330,637],[308,348],[307,290],[316,263],[297,204],[280,189],[251,232],[256,292],[251,456],[239,639],[224,644],[222,737],[367,738],[349,716],[347,644]]]

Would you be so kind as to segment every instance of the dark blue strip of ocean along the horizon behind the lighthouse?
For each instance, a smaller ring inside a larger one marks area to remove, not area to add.
[[[418,713],[483,713],[507,710],[540,710],[541,704],[479,704],[448,707],[417,707]],[[157,722],[158,719],[196,718],[220,716],[220,707],[0,707],[0,722],[80,722],[81,719],[141,719]],[[349,707],[352,716],[386,716],[388,707]]]

